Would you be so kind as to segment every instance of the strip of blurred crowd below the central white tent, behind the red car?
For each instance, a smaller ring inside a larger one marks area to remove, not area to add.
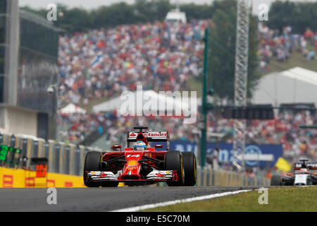
[[[119,112],[97,114],[63,114],[59,117],[62,129],[61,139],[81,143],[85,136],[94,131],[104,135],[105,141],[124,143],[125,131],[133,126],[148,126],[155,131],[169,131],[170,138],[180,141],[193,141],[197,135],[197,124],[183,124],[182,118],[176,117],[124,117]]]

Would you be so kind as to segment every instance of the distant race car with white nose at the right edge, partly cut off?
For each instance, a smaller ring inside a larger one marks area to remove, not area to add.
[[[299,160],[294,164],[293,172],[286,176],[273,175],[271,186],[303,186],[317,184],[317,163]]]

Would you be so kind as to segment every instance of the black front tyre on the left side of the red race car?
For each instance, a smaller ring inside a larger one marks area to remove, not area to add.
[[[89,187],[99,187],[100,182],[87,182],[87,173],[89,171],[100,171],[101,153],[90,151],[86,154],[84,165],[84,184]]]

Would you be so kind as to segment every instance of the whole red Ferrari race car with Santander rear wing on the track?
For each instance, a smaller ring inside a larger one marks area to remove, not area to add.
[[[166,142],[163,145],[152,142]],[[127,148],[113,145],[112,151],[90,151],[85,156],[84,183],[89,187],[146,185],[166,182],[168,186],[194,186],[197,180],[196,156],[192,152],[169,150],[168,131],[148,131],[134,127],[127,131]]]

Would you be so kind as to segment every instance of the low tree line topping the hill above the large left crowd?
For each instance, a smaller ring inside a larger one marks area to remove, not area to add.
[[[91,29],[113,28],[116,25],[153,23],[156,20],[163,21],[171,9],[176,8],[169,0],[136,0],[135,4],[118,2],[110,6],[101,6],[92,10],[85,8],[68,8],[63,4],[57,5],[57,21],[54,25],[66,30],[66,32],[85,32]],[[34,9],[28,6],[21,7],[26,11],[37,13],[46,18],[46,8]],[[184,11],[187,21],[192,19],[210,18],[214,7],[208,4],[182,4],[180,11]]]

